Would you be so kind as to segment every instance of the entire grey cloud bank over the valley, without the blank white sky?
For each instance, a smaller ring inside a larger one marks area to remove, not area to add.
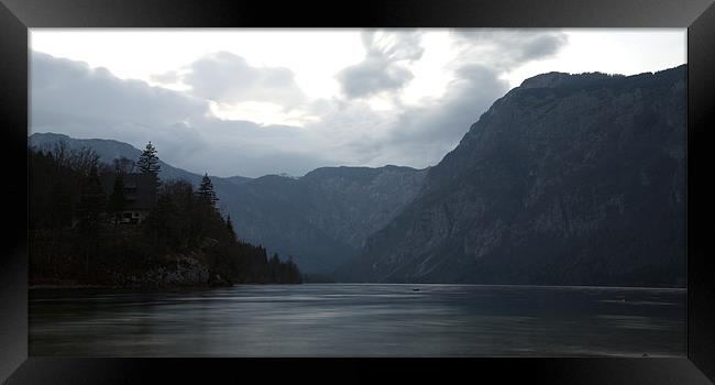
[[[443,69],[451,81],[442,95],[407,103],[406,86],[422,74],[418,62],[426,59],[421,32],[370,31],[362,37],[364,59],[338,75],[342,95],[319,100],[306,100],[292,70],[254,67],[230,53],[152,78],[184,82],[191,87],[187,91],[33,53],[32,131],[116,139],[136,147],[151,140],[169,164],[219,176],[302,175],[338,165],[426,167],[453,150],[508,90],[505,74],[565,44],[562,33],[543,30],[451,31],[444,44],[453,45],[457,57]],[[431,46],[427,38],[425,44]],[[373,108],[381,98],[388,108]],[[318,119],[300,119],[302,127],[263,125],[241,113],[217,117],[213,102],[241,109],[272,102]]]

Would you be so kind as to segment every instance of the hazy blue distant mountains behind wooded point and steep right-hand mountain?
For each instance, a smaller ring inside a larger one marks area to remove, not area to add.
[[[70,148],[94,148],[111,164],[141,151],[103,139],[73,139],[34,133],[29,143],[48,148],[65,141]],[[156,144],[161,157],[161,143]],[[212,176],[218,207],[231,215],[240,239],[266,246],[270,253],[294,257],[304,273],[327,274],[355,256],[364,240],[394,218],[421,187],[426,169],[384,166],[323,167],[302,177],[258,178]],[[161,162],[160,177],[186,179],[198,186],[201,175]]]

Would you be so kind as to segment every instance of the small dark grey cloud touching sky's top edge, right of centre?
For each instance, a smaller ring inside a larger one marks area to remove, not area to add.
[[[337,76],[348,98],[399,90],[414,78],[407,64],[418,61],[425,52],[420,45],[421,32],[365,31],[362,38],[365,58]]]

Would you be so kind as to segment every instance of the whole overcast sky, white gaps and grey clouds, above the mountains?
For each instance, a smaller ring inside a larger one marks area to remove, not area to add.
[[[218,176],[422,168],[524,79],[671,68],[685,31],[33,29],[31,133]]]

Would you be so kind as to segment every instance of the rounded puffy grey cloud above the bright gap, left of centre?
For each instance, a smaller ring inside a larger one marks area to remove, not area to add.
[[[195,96],[222,103],[264,101],[292,108],[306,99],[290,69],[254,67],[228,52],[194,62],[182,80],[191,87]]]

